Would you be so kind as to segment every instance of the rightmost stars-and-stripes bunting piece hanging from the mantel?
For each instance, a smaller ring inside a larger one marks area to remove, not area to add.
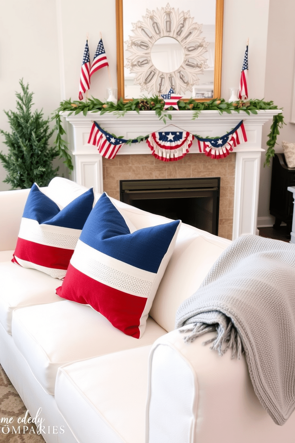
[[[247,141],[243,120],[222,137],[203,139],[195,136],[195,138],[198,142],[199,152],[203,152],[207,157],[211,157],[211,159],[223,159],[227,157],[238,144]]]

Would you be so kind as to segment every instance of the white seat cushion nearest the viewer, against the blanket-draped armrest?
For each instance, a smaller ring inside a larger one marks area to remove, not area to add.
[[[58,370],[55,400],[77,441],[144,443],[149,350],[142,346]]]

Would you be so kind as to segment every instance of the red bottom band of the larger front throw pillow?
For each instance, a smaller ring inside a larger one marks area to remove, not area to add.
[[[115,328],[126,335],[139,338],[138,320],[146,305],[146,298],[111,288],[88,277],[69,264],[57,295],[77,303],[90,304],[106,317]]]

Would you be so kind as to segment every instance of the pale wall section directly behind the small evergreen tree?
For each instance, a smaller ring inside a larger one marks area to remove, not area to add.
[[[15,110],[19,79],[29,83],[33,102],[44,117],[60,101],[55,0],[1,1],[0,12],[0,128],[10,131],[5,110]],[[7,153],[0,135],[0,151]],[[0,190],[6,171],[0,163]]]

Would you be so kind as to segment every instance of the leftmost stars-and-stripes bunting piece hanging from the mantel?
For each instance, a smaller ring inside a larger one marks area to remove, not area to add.
[[[127,140],[119,139],[104,131],[95,121],[92,124],[87,143],[97,146],[99,153],[103,157],[113,159],[126,141]]]

